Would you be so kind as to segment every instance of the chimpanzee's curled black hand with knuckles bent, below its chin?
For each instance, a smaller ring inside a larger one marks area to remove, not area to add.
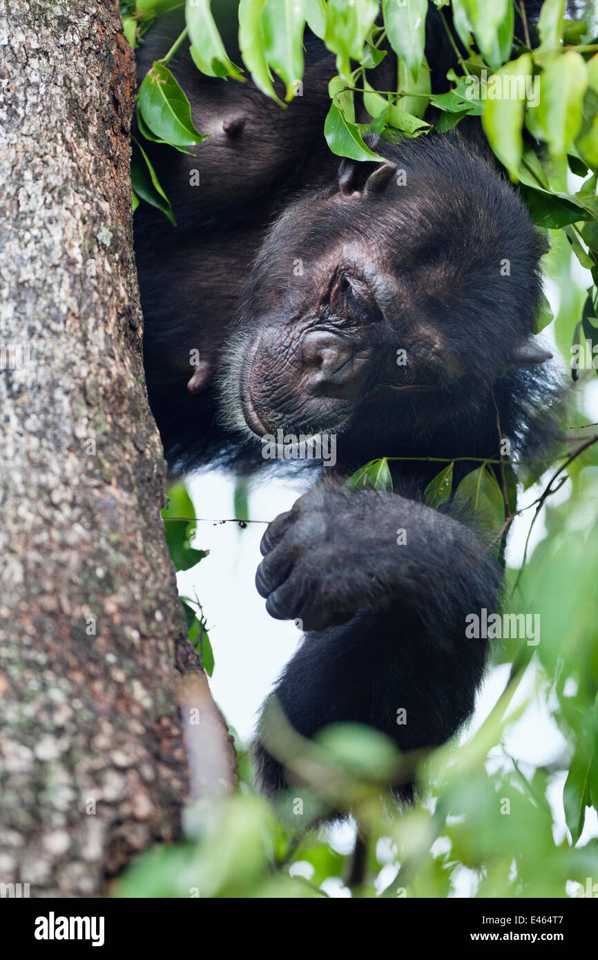
[[[269,525],[255,586],[277,620],[303,630],[347,622],[362,608],[380,609],[395,596],[400,517],[428,508],[389,492],[315,488]],[[413,558],[412,558],[413,559]]]

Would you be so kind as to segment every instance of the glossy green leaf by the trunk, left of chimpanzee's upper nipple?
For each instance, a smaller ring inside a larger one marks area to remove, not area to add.
[[[143,78],[138,93],[141,116],[164,143],[191,147],[205,139],[191,119],[191,107],[167,66],[156,61]]]

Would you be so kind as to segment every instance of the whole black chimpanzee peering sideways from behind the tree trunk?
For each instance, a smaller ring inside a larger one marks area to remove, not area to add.
[[[433,8],[427,56],[442,84]],[[158,21],[140,74],[176,21]],[[135,214],[148,391],[169,463],[251,472],[265,463],[259,438],[278,429],[337,437],[336,466],[262,540],[266,608],[306,632],[275,698],[305,737],[352,721],[402,751],[441,744],[471,713],[487,658],[466,614],[497,609],[501,573],[471,517],[424,504],[440,465],[422,458],[472,458],[454,490],[475,458],[499,456],[501,436],[519,452],[550,433],[550,354],[532,337],[537,232],[465,122],[339,164],[322,134],[334,62],[315,37],[286,111],[251,84],[201,76],[182,49],[171,67],[211,136],[197,156],[148,148],[178,228]],[[393,492],[342,489],[381,456],[400,458]],[[271,734],[262,721],[272,793],[288,775]]]

